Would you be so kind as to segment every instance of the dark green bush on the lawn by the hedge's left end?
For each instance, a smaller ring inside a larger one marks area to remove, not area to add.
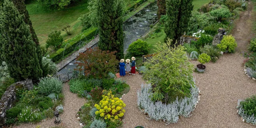
[[[60,49],[62,42],[63,38],[60,36],[60,31],[51,32],[46,40],[46,49],[52,48],[52,50],[57,51]]]

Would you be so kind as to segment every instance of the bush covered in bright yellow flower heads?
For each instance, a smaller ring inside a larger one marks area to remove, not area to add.
[[[95,107],[98,111],[95,112],[96,115],[110,120],[118,120],[124,116],[125,110],[123,109],[126,105],[122,100],[112,95],[112,92],[109,91],[108,94],[103,95],[103,99],[100,101],[100,104],[95,104]]]

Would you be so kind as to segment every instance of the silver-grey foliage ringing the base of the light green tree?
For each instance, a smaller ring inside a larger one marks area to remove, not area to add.
[[[185,97],[178,100],[178,97],[171,104],[163,104],[161,101],[152,102],[150,95],[152,87],[150,84],[142,84],[141,90],[137,91],[138,107],[144,113],[148,113],[150,119],[164,120],[169,123],[178,122],[179,116],[189,117],[198,101],[198,88],[196,86],[190,89],[191,97]]]

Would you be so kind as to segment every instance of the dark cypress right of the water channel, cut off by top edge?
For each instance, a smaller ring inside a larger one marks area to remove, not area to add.
[[[191,17],[191,11],[193,10],[193,0],[167,0],[166,1],[166,14],[167,21],[165,23],[164,32],[167,38],[173,40],[174,44],[180,40],[180,37],[186,32],[188,27],[188,22]]]

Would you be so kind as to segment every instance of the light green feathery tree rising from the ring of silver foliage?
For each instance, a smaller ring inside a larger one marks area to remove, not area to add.
[[[165,96],[168,102],[168,93],[175,92],[176,96],[190,96],[190,84],[193,85],[193,65],[186,56],[185,48],[177,46],[171,48],[171,40],[167,44],[158,44],[156,54],[148,62],[144,63],[149,70],[143,74],[143,78]]]

